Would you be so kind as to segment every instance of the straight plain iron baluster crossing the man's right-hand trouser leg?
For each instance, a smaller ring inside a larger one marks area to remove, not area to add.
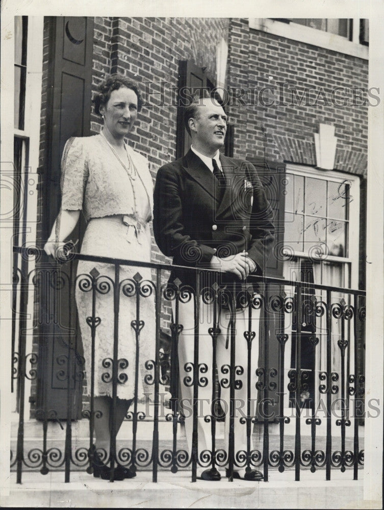
[[[231,292],[231,318],[229,327],[231,331],[231,353],[229,361],[229,438],[228,438],[228,481],[234,480],[235,464],[235,328],[236,328],[236,284],[232,285]]]

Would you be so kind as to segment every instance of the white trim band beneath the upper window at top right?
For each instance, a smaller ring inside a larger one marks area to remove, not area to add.
[[[353,26],[355,27],[355,23]],[[353,41],[348,41],[345,37],[330,32],[305,27],[294,22],[283,23],[270,18],[249,18],[249,28],[368,60],[368,46],[357,43],[355,35],[353,35]],[[353,34],[355,32],[357,31],[354,28]]]

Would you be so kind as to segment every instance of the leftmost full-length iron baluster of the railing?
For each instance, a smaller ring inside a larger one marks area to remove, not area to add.
[[[16,483],[21,483],[22,463],[24,461],[24,398],[25,398],[25,364],[26,360],[26,346],[25,342],[25,329],[27,327],[27,303],[28,303],[28,289],[27,289],[27,274],[28,262],[25,256],[21,256],[21,279],[20,279],[20,321],[19,321],[19,370],[18,370],[18,401],[19,401],[19,424],[17,429],[17,476]]]

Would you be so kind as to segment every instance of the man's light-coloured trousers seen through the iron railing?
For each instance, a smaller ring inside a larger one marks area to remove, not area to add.
[[[228,348],[227,342],[227,329],[231,315],[226,309],[219,311],[219,328],[221,333],[217,337],[216,347],[216,365],[218,372],[219,384],[220,380],[226,378],[229,381],[229,371],[224,374],[222,368],[230,365],[231,362],[231,335],[229,334]],[[175,304],[173,302],[173,319],[175,319]],[[187,386],[185,378],[193,379],[192,368],[194,360],[194,303],[191,300],[188,303],[179,303],[178,323],[183,325],[182,333],[178,341],[178,361],[180,367],[180,395],[181,395],[181,410],[185,415],[185,431],[187,436],[187,444],[189,452],[192,451],[192,432],[193,432],[193,385]],[[211,335],[208,333],[210,327],[213,326],[213,305],[203,303],[200,299],[200,317],[199,317],[199,354],[198,363],[206,364],[208,371],[199,372],[200,380],[203,377],[208,379],[208,384],[199,386],[198,388],[198,455],[203,450],[212,451],[212,433],[211,423],[204,420],[204,417],[211,416],[211,403],[212,403],[212,384],[213,384],[213,341]],[[251,382],[251,416],[255,414],[256,395],[255,382],[258,377],[255,374],[258,368],[259,358],[259,328],[260,328],[260,310],[251,311],[251,331],[254,331],[255,337],[251,342],[251,368],[250,368],[250,382]],[[235,459],[236,452],[240,450],[247,450],[247,435],[246,425],[240,422],[242,416],[247,415],[247,365],[248,365],[248,349],[247,341],[244,337],[244,331],[249,329],[249,311],[248,308],[238,310],[236,312],[236,325],[235,325],[235,365],[241,366],[244,371],[241,375],[235,375],[236,380],[241,381],[241,388],[235,387],[235,420],[234,420],[234,436],[235,436]],[[226,385],[225,385],[226,386]],[[225,425],[224,425],[224,439],[225,450],[228,452],[229,440],[229,387],[223,388],[221,386],[221,406],[225,412]],[[253,425],[251,426],[251,430]],[[216,449],[218,449],[216,442]],[[252,442],[250,445],[252,450]]]

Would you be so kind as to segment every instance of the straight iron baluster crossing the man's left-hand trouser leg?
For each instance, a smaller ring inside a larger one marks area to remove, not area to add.
[[[198,462],[197,409],[199,393],[199,320],[200,320],[200,273],[196,271],[194,299],[194,351],[193,351],[193,430],[192,430],[192,481],[196,481]]]

